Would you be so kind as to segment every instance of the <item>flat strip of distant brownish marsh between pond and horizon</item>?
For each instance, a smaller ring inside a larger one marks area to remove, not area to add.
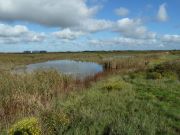
[[[16,66],[23,66],[31,63],[44,62],[48,60],[71,59],[80,61],[103,61],[119,60],[124,56],[138,58],[154,58],[155,62],[173,59],[180,51],[115,51],[115,52],[69,52],[69,53],[44,53],[44,54],[0,54],[0,70],[12,70]],[[167,56],[167,57],[166,57]],[[171,58],[172,57],[172,58]],[[126,58],[126,57],[124,57]]]

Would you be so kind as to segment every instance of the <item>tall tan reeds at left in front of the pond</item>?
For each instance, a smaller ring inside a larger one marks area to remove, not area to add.
[[[56,71],[37,71],[32,74],[1,72],[0,86],[1,127],[19,117],[50,108],[55,97],[77,88],[76,81],[70,76]],[[78,87],[83,88],[83,84]]]

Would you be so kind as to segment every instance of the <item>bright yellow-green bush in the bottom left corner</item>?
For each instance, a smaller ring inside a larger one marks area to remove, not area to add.
[[[34,117],[24,118],[15,123],[9,130],[9,135],[40,135],[41,127]]]

